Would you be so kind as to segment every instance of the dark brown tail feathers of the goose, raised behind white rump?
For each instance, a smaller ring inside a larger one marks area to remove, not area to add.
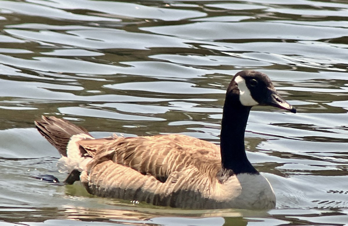
[[[54,116],[42,115],[41,120],[34,122],[40,134],[65,157],[67,156],[66,147],[73,135],[87,134],[91,136],[85,128],[76,126],[64,119],[57,119]]]

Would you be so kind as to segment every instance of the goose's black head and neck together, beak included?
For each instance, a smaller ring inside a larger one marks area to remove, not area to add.
[[[296,109],[276,91],[269,77],[259,71],[243,70],[230,82],[223,106],[220,151],[220,180],[239,173],[258,174],[247,159],[244,145],[245,128],[252,106],[268,105],[293,113]]]

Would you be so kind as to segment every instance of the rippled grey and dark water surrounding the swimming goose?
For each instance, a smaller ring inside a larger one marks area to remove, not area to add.
[[[348,225],[348,2],[0,0],[1,225]],[[248,157],[267,212],[180,210],[90,196],[57,172],[41,114],[97,137],[219,142],[224,92],[268,74],[297,114],[254,107]]]

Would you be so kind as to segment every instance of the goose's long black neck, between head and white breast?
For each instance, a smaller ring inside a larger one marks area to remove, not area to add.
[[[227,94],[223,106],[220,150],[222,171],[234,174],[258,173],[246,157],[244,133],[251,107],[243,106],[239,95]]]

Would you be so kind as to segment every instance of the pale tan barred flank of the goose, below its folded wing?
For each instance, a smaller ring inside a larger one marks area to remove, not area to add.
[[[216,180],[210,180],[192,165],[171,173],[162,183],[150,174],[142,175],[112,160],[93,159],[80,179],[90,194],[101,197],[179,208],[216,208],[212,198]]]

